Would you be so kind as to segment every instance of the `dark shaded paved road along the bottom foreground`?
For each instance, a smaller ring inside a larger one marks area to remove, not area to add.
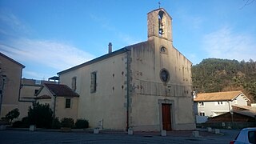
[[[24,131],[24,130],[2,130],[0,131],[0,143],[26,144],[26,143],[229,143],[238,133],[238,130],[221,130],[224,135],[210,134],[202,138],[191,136],[174,136],[168,134],[161,137],[156,134],[134,134],[106,133],[89,134],[85,132],[53,132],[53,131]],[[182,134],[182,133],[181,133]]]

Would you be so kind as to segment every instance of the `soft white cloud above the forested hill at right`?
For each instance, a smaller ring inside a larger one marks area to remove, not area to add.
[[[206,34],[202,47],[209,58],[227,58],[256,60],[256,41],[250,34],[234,33],[230,28],[223,27],[220,30]]]

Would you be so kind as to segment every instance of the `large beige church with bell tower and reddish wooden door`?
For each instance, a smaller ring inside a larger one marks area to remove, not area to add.
[[[195,129],[192,63],[173,46],[166,10],[147,16],[146,42],[114,52],[110,43],[109,54],[58,73],[59,82],[80,95],[78,118],[91,127],[101,122],[114,130]]]

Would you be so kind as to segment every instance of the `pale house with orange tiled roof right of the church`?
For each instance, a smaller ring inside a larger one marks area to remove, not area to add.
[[[197,115],[215,117],[232,110],[232,106],[247,106],[250,99],[242,91],[197,94],[194,106]]]

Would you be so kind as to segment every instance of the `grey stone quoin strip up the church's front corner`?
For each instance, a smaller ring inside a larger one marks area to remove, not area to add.
[[[130,111],[129,111],[129,108],[130,108],[130,50],[126,49],[126,54],[127,54],[127,62],[126,62],[126,74],[127,74],[127,98],[126,98],[126,101],[127,101],[127,106],[126,106],[126,130],[128,131],[129,127],[130,127],[130,122],[129,122],[129,119],[130,119]]]

